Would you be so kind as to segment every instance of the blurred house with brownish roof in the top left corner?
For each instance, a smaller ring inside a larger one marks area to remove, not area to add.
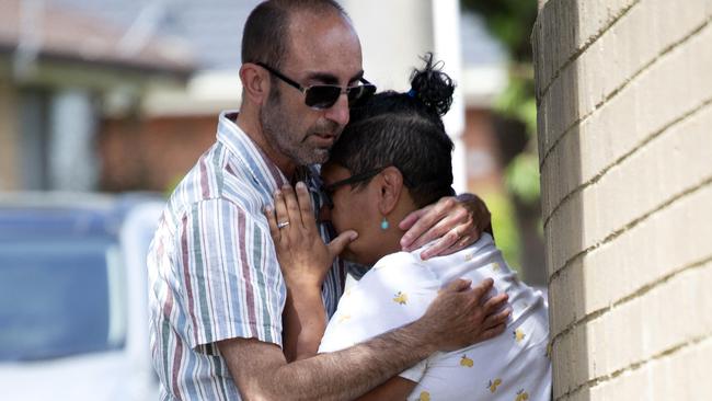
[[[99,131],[193,71],[180,42],[58,2],[0,3],[0,191],[99,188]]]

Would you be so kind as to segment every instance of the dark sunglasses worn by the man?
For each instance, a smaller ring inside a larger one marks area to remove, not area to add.
[[[302,87],[301,84],[299,84],[299,82],[290,78],[287,78],[284,73],[277,71],[276,69],[267,66],[264,62],[255,62],[255,64],[266,69],[272,75],[285,81],[289,85],[298,89],[301,93],[305,94],[305,103],[309,107],[317,108],[317,110],[324,110],[333,106],[338,100],[338,96],[342,95],[342,93],[346,93],[346,96],[348,98],[349,107],[355,105],[358,101],[363,99],[367,99],[371,96],[374,93],[376,93],[376,85],[368,82],[364,78],[359,79],[359,82],[361,82],[363,84],[354,85],[354,87],[342,88],[340,85],[332,85],[332,84],[317,84],[310,87]]]

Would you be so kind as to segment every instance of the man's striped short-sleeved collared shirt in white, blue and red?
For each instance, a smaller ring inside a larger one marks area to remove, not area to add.
[[[217,341],[282,346],[286,287],[262,210],[288,180],[236,117],[220,115],[216,144],[176,187],[151,243],[150,344],[162,400],[240,399]],[[318,173],[299,169],[314,210],[323,202]],[[319,229],[329,241],[332,229]],[[322,288],[330,317],[344,277],[335,261]]]

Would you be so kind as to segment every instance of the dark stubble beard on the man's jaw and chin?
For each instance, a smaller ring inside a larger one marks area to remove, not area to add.
[[[324,124],[311,127],[307,133],[295,135],[295,127],[299,124],[289,117],[282,102],[280,91],[276,88],[271,90],[267,104],[260,110],[260,123],[269,145],[297,165],[324,163],[329,159],[331,148],[314,148],[306,141],[313,131],[335,131],[337,128],[334,127],[336,123],[325,121]],[[336,138],[340,135],[341,129],[336,131]]]

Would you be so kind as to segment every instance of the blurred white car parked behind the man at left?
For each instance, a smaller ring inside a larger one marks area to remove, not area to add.
[[[0,400],[156,400],[157,196],[0,195]]]

